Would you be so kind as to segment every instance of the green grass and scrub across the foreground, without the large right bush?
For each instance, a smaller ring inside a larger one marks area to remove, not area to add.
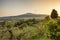
[[[49,38],[49,25],[57,21],[49,23],[50,21],[31,19],[6,22],[4,27],[0,26],[0,40],[52,40]],[[58,29],[60,29],[60,25],[58,25]],[[12,39],[10,39],[11,35]],[[58,32],[58,35],[60,35],[60,32]]]

